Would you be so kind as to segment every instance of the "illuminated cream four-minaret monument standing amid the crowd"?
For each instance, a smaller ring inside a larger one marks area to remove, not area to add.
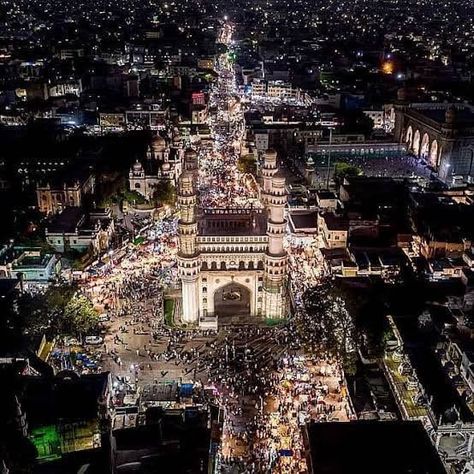
[[[219,317],[286,316],[285,178],[276,152],[262,169],[264,209],[200,209],[197,159],[185,158],[178,183],[178,269],[182,321],[216,327]]]

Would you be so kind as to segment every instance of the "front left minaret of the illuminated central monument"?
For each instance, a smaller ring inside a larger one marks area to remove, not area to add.
[[[178,272],[182,283],[184,323],[199,322],[198,279],[199,252],[196,247],[196,182],[192,171],[183,171],[178,180],[177,192],[180,219],[178,222]]]

